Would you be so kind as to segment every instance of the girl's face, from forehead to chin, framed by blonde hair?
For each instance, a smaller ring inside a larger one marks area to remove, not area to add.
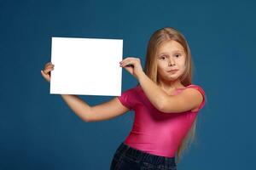
[[[163,42],[157,50],[157,74],[166,82],[177,80],[185,70],[185,57],[183,46],[174,40]],[[177,71],[172,71],[177,70]]]

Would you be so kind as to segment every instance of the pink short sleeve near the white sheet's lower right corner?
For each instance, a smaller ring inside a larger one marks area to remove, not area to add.
[[[117,96],[117,98],[122,103],[122,105],[127,107],[129,110],[134,110],[133,95],[134,95],[134,90],[133,88],[130,88],[128,90],[125,90],[125,92],[122,92],[121,96]]]

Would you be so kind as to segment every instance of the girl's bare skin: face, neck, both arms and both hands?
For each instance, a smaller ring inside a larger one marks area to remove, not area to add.
[[[172,91],[176,88],[183,88],[183,85],[179,82],[178,77],[182,75],[184,71],[184,59],[182,54],[180,57],[176,56],[174,50],[181,50],[182,46],[177,42],[163,43],[158,51],[157,55],[160,57],[157,59],[158,65],[158,77],[159,83],[155,84],[147,75],[143,72],[141,61],[139,58],[127,57],[119,62],[119,66],[125,68],[130,72],[132,76],[136,77],[144,93],[147,95],[151,104],[154,105],[159,111],[172,113],[189,111],[193,108],[197,108],[202,101],[201,94],[193,89],[184,89],[182,93],[177,95],[172,94]],[[163,52],[166,56],[163,56]],[[171,63],[172,65],[168,65]],[[44,70],[41,71],[42,77],[50,83],[50,71],[54,70],[54,66],[51,62],[44,65]],[[166,71],[178,69],[176,73],[168,73]],[[99,105],[88,105],[83,99],[79,99],[79,96],[73,94],[61,94],[62,99],[67,103],[71,110],[79,116],[84,122],[98,122],[108,120],[116,116],[124,114],[129,111],[125,105],[122,105],[117,97],[110,99]]]

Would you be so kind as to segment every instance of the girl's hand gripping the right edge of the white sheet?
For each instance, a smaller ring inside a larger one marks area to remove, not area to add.
[[[119,62],[121,67],[124,67],[126,71],[130,72],[132,76],[138,78],[139,73],[143,71],[141,60],[139,58],[127,57]]]

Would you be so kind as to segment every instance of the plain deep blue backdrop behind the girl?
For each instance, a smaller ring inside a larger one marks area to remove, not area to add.
[[[51,37],[122,38],[124,56],[144,65],[149,37],[165,26],[186,37],[193,82],[207,93],[196,142],[177,168],[255,168],[256,4],[242,2],[1,1],[0,169],[108,169],[134,113],[86,123],[49,94],[40,70]],[[137,85],[125,69],[122,82],[122,91]],[[113,98],[80,97],[89,105]]]

